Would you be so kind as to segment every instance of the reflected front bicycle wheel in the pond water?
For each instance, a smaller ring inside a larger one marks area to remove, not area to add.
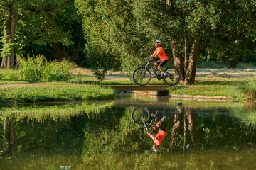
[[[136,125],[144,125],[142,116],[145,120],[145,123],[148,122],[150,118],[149,110],[147,108],[135,108],[132,111],[132,122]]]

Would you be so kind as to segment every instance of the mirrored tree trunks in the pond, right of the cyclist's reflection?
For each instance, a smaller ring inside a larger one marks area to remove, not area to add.
[[[196,125],[196,114],[193,108],[188,106],[177,106],[174,113],[174,125],[171,130],[171,146],[177,145],[178,136],[181,135],[183,127],[183,149],[188,146],[188,137],[194,147],[198,147],[198,132]],[[189,136],[188,136],[189,134]]]

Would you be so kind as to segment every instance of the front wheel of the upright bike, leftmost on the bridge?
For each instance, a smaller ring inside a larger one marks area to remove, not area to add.
[[[134,81],[134,84],[137,84],[139,86],[144,86],[149,83],[151,79],[151,73],[149,72],[149,69],[145,69],[145,67],[137,67],[132,72],[132,80]]]

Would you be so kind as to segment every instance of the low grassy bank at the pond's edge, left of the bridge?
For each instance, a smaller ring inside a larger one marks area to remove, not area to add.
[[[0,88],[1,103],[100,100],[114,95],[112,89],[68,83],[42,83]]]

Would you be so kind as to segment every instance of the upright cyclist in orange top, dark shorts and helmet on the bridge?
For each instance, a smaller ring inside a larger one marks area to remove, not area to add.
[[[167,75],[164,72],[164,69],[162,69],[162,67],[163,65],[167,64],[168,57],[164,53],[164,49],[161,47],[160,40],[156,40],[155,45],[156,45],[156,51],[148,59],[151,59],[152,57],[157,57],[157,56],[160,58],[160,60],[154,63],[154,68],[156,69],[156,71],[159,69],[163,74],[163,79],[166,79]]]

